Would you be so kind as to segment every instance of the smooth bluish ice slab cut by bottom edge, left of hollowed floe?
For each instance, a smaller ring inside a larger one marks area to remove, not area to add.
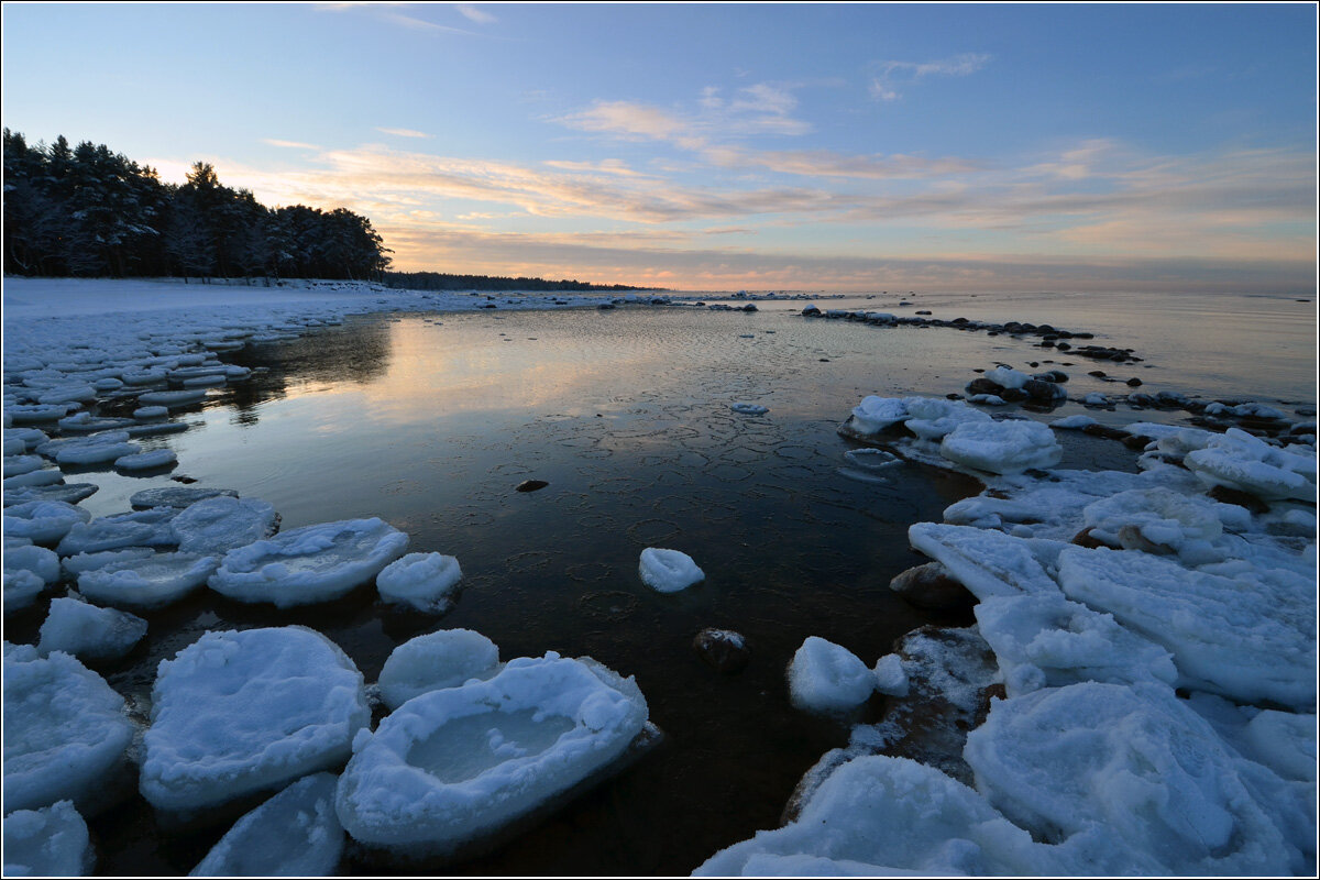
[[[343,852],[338,777],[305,776],[239,819],[189,876],[325,877]]]

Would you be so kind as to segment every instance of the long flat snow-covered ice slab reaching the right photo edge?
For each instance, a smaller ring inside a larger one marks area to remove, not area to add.
[[[1068,548],[1059,583],[1172,652],[1180,685],[1313,711],[1313,581],[1243,583],[1146,553]]]

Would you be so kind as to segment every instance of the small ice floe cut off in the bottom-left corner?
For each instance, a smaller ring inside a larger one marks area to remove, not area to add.
[[[83,877],[95,851],[73,801],[4,817],[4,876]]]

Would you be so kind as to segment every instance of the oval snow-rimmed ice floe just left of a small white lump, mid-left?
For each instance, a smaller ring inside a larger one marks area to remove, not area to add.
[[[329,602],[375,578],[407,548],[408,536],[378,519],[308,525],[230,550],[209,586],[280,608]]]

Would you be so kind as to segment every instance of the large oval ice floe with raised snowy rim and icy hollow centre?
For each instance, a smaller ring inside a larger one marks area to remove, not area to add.
[[[632,678],[554,653],[519,657],[388,715],[355,743],[335,807],[362,843],[447,854],[607,772],[645,722]]]

